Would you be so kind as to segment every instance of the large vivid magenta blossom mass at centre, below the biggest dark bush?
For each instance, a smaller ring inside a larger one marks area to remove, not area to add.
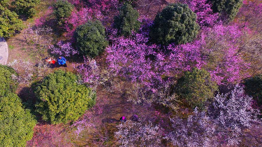
[[[170,86],[175,76],[204,64],[204,57],[200,52],[201,41],[178,46],[151,44],[148,41],[148,28],[151,24],[152,21],[147,21],[141,26],[139,33],[133,33],[128,38],[115,36],[117,30],[108,29],[108,38],[112,42],[106,49],[109,70],[123,81],[133,84],[131,91],[135,93],[132,95],[137,98],[132,101],[135,103],[152,97],[159,100],[158,94]],[[154,100],[149,102],[152,101]]]

